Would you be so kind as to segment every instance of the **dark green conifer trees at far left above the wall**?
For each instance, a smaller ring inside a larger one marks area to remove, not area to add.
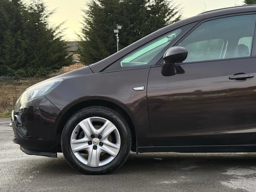
[[[0,75],[19,69],[60,69],[72,63],[61,25],[49,26],[53,13],[40,0],[29,5],[0,0]]]

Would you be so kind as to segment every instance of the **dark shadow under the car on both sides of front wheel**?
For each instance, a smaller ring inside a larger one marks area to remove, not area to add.
[[[137,173],[148,174],[157,172],[189,172],[195,168],[201,171],[224,171],[228,168],[256,166],[256,153],[145,153],[131,152],[125,164],[112,174]],[[62,154],[58,158],[39,160],[34,169],[42,169],[48,174],[78,175],[66,162]]]

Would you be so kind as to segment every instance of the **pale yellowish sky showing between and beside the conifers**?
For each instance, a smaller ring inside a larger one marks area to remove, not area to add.
[[[77,40],[76,33],[80,33],[82,11],[86,8],[87,0],[45,0],[49,10],[57,9],[56,13],[50,18],[54,25],[66,21],[64,28],[65,40]],[[174,0],[176,4],[183,7],[183,18],[197,15],[204,11],[243,5],[244,0]],[[122,25],[122,23],[120,23]]]

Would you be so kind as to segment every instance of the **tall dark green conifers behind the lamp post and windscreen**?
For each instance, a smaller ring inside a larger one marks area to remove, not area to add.
[[[116,52],[116,25],[119,50],[142,37],[181,19],[181,10],[172,0],[90,0],[84,10],[80,60],[100,61]]]

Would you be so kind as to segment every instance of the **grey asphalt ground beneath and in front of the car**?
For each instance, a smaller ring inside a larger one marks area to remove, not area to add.
[[[256,191],[256,153],[131,153],[109,175],[83,175],[58,158],[26,155],[0,119],[0,191]]]

